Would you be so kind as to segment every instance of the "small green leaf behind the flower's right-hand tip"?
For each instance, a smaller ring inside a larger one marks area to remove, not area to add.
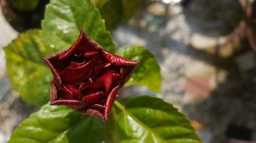
[[[148,89],[160,92],[161,73],[160,67],[156,61],[155,55],[143,46],[124,46],[118,49],[117,54],[140,64],[135,69],[130,80],[125,84],[145,85]]]

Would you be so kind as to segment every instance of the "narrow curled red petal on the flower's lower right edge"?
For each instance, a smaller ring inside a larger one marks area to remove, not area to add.
[[[109,113],[110,113],[111,107],[116,99],[116,94],[118,92],[118,89],[119,89],[119,85],[117,87],[115,87],[110,92],[108,97],[106,98],[105,111],[104,111],[105,121],[108,120],[108,118],[109,118]]]

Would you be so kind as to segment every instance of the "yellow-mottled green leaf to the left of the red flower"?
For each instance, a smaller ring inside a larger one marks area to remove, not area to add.
[[[6,46],[6,66],[13,90],[28,104],[43,105],[50,100],[50,69],[42,58],[49,53],[42,44],[41,31],[18,35]]]

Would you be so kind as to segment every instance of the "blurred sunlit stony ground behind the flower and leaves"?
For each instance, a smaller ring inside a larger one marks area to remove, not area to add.
[[[13,1],[0,2],[0,143],[4,143],[39,107],[27,105],[12,91],[3,47],[18,33],[40,28],[49,1],[25,9]],[[186,114],[206,143],[256,142],[254,0],[141,0],[128,22],[109,29],[117,47],[146,46],[161,66],[161,94],[132,85],[121,90],[122,97],[164,98]]]

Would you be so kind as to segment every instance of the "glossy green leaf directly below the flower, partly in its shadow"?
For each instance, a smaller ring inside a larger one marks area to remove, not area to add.
[[[104,122],[98,118],[82,118],[66,106],[47,104],[20,123],[8,143],[100,143],[103,132]]]

